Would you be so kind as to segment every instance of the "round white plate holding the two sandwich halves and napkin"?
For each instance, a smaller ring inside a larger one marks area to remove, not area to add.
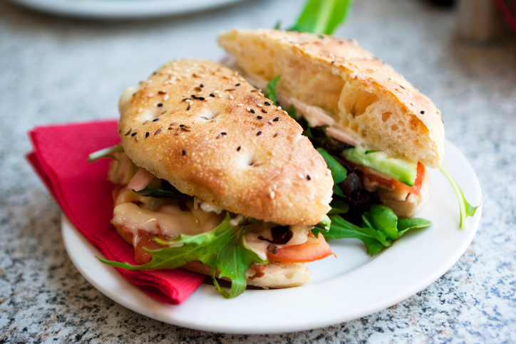
[[[444,165],[468,200],[478,204],[480,184],[468,160],[446,142]],[[458,229],[459,210],[443,174],[430,171],[430,198],[417,216],[433,221],[409,232],[393,246],[370,258],[361,241],[330,241],[339,257],[309,264],[313,281],[298,288],[247,290],[227,300],[214,286],[203,284],[180,306],[155,301],[115,269],[98,261],[99,252],[63,216],[66,251],[78,271],[108,298],[150,318],[196,330],[222,333],[285,333],[321,328],[367,316],[423,290],[463,255],[473,240],[482,209]]]

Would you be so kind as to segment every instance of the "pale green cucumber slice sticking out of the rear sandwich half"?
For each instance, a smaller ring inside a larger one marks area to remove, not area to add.
[[[343,150],[341,154],[351,162],[367,166],[409,187],[416,182],[418,162],[388,157],[384,152],[366,150],[363,147],[349,148]]]

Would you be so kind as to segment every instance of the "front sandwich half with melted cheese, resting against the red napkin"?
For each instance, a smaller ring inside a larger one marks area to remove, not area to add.
[[[120,97],[112,223],[135,249],[123,269],[187,269],[225,297],[247,285],[310,281],[308,261],[331,255],[333,179],[286,111],[241,75],[210,61],[166,63]],[[231,281],[229,293],[217,281]]]

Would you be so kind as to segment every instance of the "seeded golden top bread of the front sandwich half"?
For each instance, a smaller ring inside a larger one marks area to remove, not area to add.
[[[296,121],[267,101],[218,63],[171,61],[125,91],[118,129],[135,165],[180,192],[246,217],[317,224],[331,172]]]

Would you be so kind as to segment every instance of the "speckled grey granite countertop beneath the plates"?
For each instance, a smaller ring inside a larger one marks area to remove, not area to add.
[[[406,301],[328,328],[225,335],[140,316],[71,263],[61,210],[24,155],[35,125],[117,116],[118,96],[170,58],[219,59],[224,29],[290,24],[302,1],[147,21],[73,20],[0,2],[0,343],[515,343],[516,48],[455,36],[453,10],[423,0],[356,1],[336,32],[391,64],[443,113],[446,136],[485,192],[478,233],[450,271]]]

